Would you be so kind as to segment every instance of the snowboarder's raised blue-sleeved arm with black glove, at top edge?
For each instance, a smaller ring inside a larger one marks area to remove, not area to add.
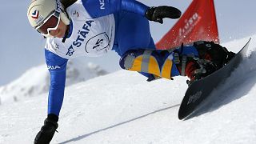
[[[172,6],[149,7],[135,0],[95,1],[82,0],[82,5],[92,18],[114,14],[124,10],[146,17],[150,21],[162,23],[163,18],[179,18],[182,12]]]

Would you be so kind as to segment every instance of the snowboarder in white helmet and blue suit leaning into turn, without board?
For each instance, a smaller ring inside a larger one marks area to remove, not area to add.
[[[45,58],[50,71],[48,115],[35,144],[49,143],[58,128],[66,65],[71,58],[115,50],[123,69],[138,71],[148,81],[183,75],[193,82],[218,70],[233,56],[214,42],[156,50],[149,21],[179,18],[180,10],[172,6],[149,7],[135,0],[68,2],[33,0],[27,11],[30,25],[46,37]]]

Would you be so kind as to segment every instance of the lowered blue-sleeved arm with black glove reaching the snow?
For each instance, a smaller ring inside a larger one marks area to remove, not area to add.
[[[48,116],[34,139],[34,144],[49,143],[58,128],[58,114],[62,107],[66,81],[67,59],[45,50],[46,64],[50,71],[50,90],[48,96]]]

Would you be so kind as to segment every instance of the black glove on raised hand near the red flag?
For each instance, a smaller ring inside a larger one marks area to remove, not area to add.
[[[146,10],[146,18],[150,21],[163,23],[162,18],[180,18],[182,12],[172,6],[150,7]]]

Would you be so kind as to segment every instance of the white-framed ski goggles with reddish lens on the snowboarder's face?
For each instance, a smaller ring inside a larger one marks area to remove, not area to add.
[[[42,24],[35,27],[36,30],[38,30],[39,33],[47,36],[50,35],[50,30],[56,30],[58,27],[58,24],[60,22],[60,13],[56,10],[52,14],[50,14],[43,22]]]

